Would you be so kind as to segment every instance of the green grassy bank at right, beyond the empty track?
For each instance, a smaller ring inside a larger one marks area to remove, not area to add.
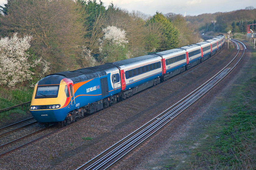
[[[253,53],[253,60],[256,52]],[[192,169],[256,169],[256,62],[247,72],[251,78],[233,87],[224,116],[210,127],[207,138],[192,151]]]

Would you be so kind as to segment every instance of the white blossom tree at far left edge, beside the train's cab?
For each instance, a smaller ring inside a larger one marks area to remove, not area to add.
[[[39,74],[43,76],[49,69],[49,64],[42,58],[29,62],[30,54],[26,52],[30,47],[32,36],[5,37],[0,39],[0,84],[8,87],[15,86],[17,83],[32,80],[34,73],[31,68],[41,65],[42,70]]]

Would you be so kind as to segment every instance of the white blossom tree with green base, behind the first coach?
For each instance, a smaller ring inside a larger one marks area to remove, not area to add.
[[[126,59],[129,56],[127,55],[129,54],[129,50],[125,30],[121,30],[115,26],[108,26],[102,30],[104,36],[102,39],[99,39],[100,60],[114,62]]]

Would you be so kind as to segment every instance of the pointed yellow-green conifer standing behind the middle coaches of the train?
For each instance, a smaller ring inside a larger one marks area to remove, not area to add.
[[[152,19],[151,23],[160,23],[162,25],[162,32],[165,36],[164,42],[157,49],[158,51],[164,51],[168,49],[173,49],[179,46],[179,31],[174,28],[172,23],[162,14],[156,12]]]

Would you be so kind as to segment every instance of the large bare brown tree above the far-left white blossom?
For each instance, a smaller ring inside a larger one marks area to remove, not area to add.
[[[52,63],[52,71],[66,70],[63,64],[69,69],[79,67],[76,60],[85,34],[80,4],[72,0],[8,0],[6,7],[7,15],[0,20],[2,34],[33,35],[31,48]]]

